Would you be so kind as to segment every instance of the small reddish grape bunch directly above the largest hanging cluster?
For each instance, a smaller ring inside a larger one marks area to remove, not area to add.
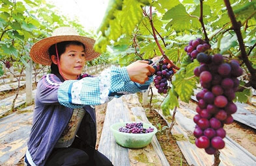
[[[184,48],[184,51],[187,52],[193,62],[193,60],[197,58],[197,54],[203,53],[208,49],[210,49],[210,44],[206,43],[201,38],[197,38],[196,40],[190,40],[188,45]]]

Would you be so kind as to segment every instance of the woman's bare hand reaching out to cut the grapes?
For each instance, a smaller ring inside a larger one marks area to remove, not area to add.
[[[126,67],[128,75],[133,82],[144,84],[154,73],[154,67],[147,60],[138,60]]]

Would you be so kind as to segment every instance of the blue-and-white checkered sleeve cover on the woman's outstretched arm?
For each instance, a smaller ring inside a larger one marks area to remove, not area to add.
[[[98,77],[64,81],[58,89],[58,101],[69,108],[103,104],[113,97],[145,91],[151,82],[152,77],[145,84],[132,82],[126,67],[112,66]]]

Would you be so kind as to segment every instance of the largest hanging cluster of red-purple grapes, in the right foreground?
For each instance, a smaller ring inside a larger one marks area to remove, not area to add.
[[[201,63],[194,69],[194,74],[200,77],[203,90],[197,93],[198,100],[193,121],[197,124],[193,135],[195,145],[205,148],[207,154],[224,148],[224,124],[233,123],[231,114],[236,112],[235,91],[239,86],[238,78],[243,71],[237,60],[225,62],[221,54],[208,56],[199,53],[197,60]]]

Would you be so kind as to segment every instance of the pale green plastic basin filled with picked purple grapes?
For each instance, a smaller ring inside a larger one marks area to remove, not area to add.
[[[115,141],[126,148],[142,148],[149,145],[157,129],[148,123],[121,122],[110,126]]]

